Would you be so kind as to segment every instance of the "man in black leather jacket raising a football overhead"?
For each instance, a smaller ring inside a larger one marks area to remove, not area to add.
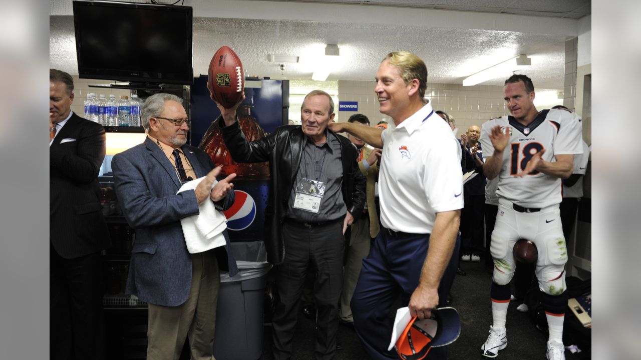
[[[327,129],[335,116],[334,103],[321,90],[306,95],[302,126],[280,126],[253,142],[247,142],[240,130],[235,108],[219,108],[222,115],[216,121],[233,160],[269,161],[265,244],[268,260],[277,265],[279,295],[273,318],[274,359],[292,356],[301,291],[313,268],[318,308],[315,354],[317,359],[333,359],[344,234],[365,204],[365,177],[356,163],[356,147]]]

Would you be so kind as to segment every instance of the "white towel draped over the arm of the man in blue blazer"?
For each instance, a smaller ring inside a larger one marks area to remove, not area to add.
[[[185,190],[194,190],[196,186],[203,181],[203,177],[196,180],[188,181],[183,184],[178,192]],[[213,181],[213,186],[218,181]],[[198,205],[200,213],[190,217],[182,218],[180,224],[183,227],[183,234],[185,235],[185,243],[187,243],[187,250],[190,254],[197,252],[204,252],[216,247],[225,245],[225,238],[222,231],[227,229],[227,218],[213,206],[210,199],[204,200]]]

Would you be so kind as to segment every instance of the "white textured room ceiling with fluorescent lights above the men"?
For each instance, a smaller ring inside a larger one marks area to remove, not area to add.
[[[142,2],[142,1],[131,1]],[[161,1],[158,1],[161,2]],[[169,3],[169,0],[162,1]],[[171,1],[173,2],[173,1]],[[78,74],[71,1],[51,0],[49,63]],[[390,51],[411,51],[428,65],[429,83],[458,83],[524,53],[523,71],[537,88],[563,88],[565,40],[578,35],[590,0],[185,0],[194,7],[194,74],[213,53],[232,47],[249,76],[311,79],[326,44],[338,44],[342,65],[328,80],[373,80]],[[512,15],[523,14],[523,15]],[[300,56],[299,63],[269,55]],[[504,77],[484,83],[503,85]]]

